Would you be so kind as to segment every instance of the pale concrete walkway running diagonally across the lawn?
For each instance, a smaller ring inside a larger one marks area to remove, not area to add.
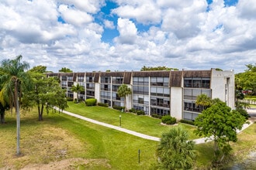
[[[56,110],[60,110],[58,107],[54,107],[54,109]],[[68,112],[66,110],[61,110],[61,112],[63,114],[67,114],[67,115],[70,115],[72,117],[77,117],[81,120],[84,120],[84,121],[88,121],[88,122],[91,122],[93,124],[99,124],[101,126],[105,126],[107,128],[112,128],[112,129],[115,129],[117,131],[123,131],[125,132],[126,134],[132,134],[134,136],[137,136],[137,137],[140,137],[140,138],[144,138],[144,139],[148,139],[148,140],[151,140],[151,141],[160,141],[161,138],[157,138],[157,137],[153,137],[153,136],[150,136],[150,135],[147,135],[147,134],[141,134],[141,133],[138,133],[136,131],[130,131],[128,129],[125,129],[125,128],[121,128],[121,127],[118,127],[118,126],[114,126],[112,124],[106,124],[106,123],[103,123],[103,122],[100,122],[100,121],[95,121],[93,119],[90,119],[88,117],[83,117],[79,114],[73,114],[71,112]],[[244,129],[248,128],[251,124],[254,123],[253,120],[249,120],[248,121],[250,124],[244,124],[243,128],[241,129],[241,131],[243,131]],[[240,131],[237,131],[237,133],[239,133]],[[195,141],[195,144],[202,144],[202,143],[206,143],[208,141],[211,141],[212,139],[209,138],[209,140],[206,141],[206,138],[199,138],[199,139],[195,139],[193,141]]]

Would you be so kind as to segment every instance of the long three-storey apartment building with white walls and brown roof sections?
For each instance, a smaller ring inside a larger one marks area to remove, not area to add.
[[[145,114],[171,115],[178,120],[194,120],[202,112],[195,104],[196,97],[205,93],[220,98],[234,109],[234,70],[180,70],[180,71],[131,71],[90,73],[47,73],[57,76],[67,97],[85,100],[95,98],[109,107],[124,106],[123,97],[117,95],[123,83],[131,88],[126,97],[126,107],[144,110]],[[79,83],[85,92],[71,92]]]

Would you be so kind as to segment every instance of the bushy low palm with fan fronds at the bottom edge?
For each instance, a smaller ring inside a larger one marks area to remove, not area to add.
[[[187,131],[181,127],[171,128],[162,134],[157,156],[161,169],[190,169],[194,163],[195,151],[193,141],[188,141]]]

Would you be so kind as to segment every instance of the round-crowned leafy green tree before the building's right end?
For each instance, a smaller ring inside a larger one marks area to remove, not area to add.
[[[224,155],[230,152],[229,141],[237,141],[237,129],[241,129],[245,121],[237,110],[231,110],[219,99],[213,100],[213,105],[195,118],[195,134],[214,141],[213,164],[221,162]]]

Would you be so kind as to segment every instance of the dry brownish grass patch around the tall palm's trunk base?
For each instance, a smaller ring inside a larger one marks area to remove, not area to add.
[[[3,132],[5,134],[3,134]],[[21,129],[20,151],[16,156],[16,133],[0,131],[0,169],[75,169],[79,166],[108,168],[105,159],[86,159],[90,146],[62,128],[38,123]]]

